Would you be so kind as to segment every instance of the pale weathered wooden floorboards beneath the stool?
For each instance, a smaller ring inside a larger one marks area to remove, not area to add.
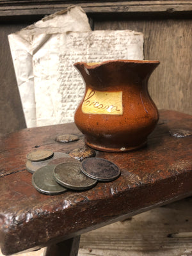
[[[78,256],[192,256],[192,237],[168,237],[177,232],[192,232],[192,197],[82,235]]]

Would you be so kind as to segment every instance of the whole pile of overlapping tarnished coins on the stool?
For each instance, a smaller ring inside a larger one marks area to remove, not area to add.
[[[68,189],[90,189],[98,181],[109,182],[120,175],[116,164],[98,157],[86,158],[81,163],[62,152],[36,150],[27,158],[26,168],[33,173],[33,186],[47,195],[57,195]]]

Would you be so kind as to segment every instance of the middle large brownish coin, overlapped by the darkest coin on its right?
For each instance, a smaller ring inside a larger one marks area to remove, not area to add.
[[[66,188],[84,190],[93,188],[97,180],[90,179],[81,172],[81,163],[61,163],[54,168],[56,181]]]

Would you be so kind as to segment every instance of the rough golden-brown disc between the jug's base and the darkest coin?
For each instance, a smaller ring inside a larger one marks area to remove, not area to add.
[[[78,159],[79,161],[83,161],[88,157],[95,157],[95,150],[92,148],[84,147],[84,148],[76,148],[69,153],[69,156]]]

